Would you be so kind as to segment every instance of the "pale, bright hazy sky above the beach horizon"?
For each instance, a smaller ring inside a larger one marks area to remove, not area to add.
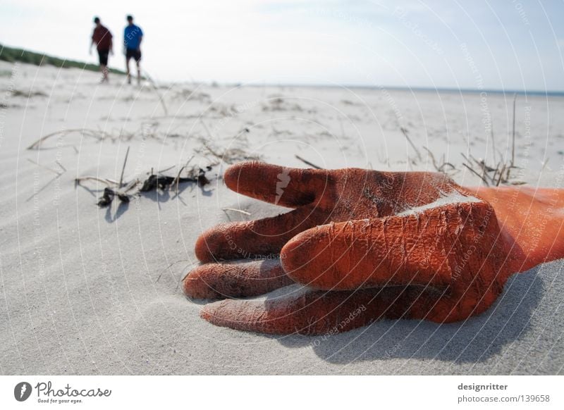
[[[564,91],[564,0],[0,0],[0,43],[80,61],[92,18],[142,27],[173,82]]]

